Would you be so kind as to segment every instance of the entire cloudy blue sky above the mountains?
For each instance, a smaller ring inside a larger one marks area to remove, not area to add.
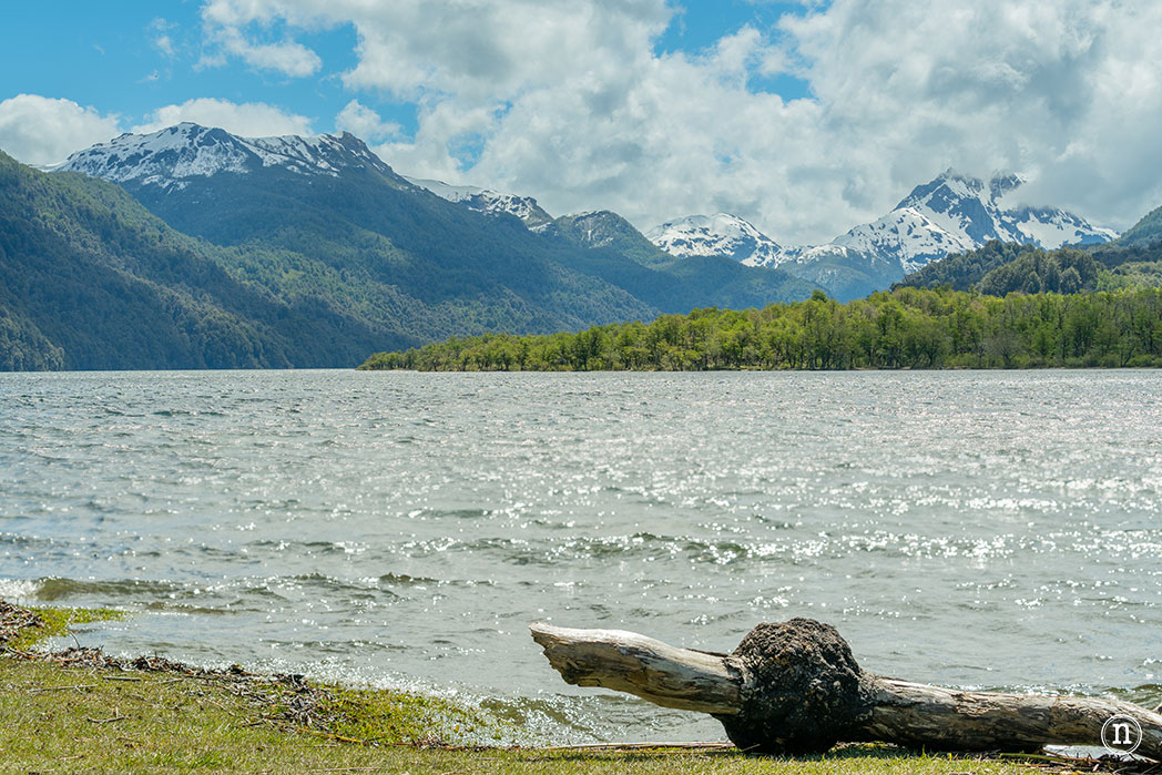
[[[1162,204],[1162,3],[6,3],[0,149],[180,121],[346,130],[403,174],[641,230],[725,211],[817,244],[948,167],[1125,229]]]

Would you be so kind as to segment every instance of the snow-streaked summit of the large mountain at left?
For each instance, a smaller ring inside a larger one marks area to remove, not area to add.
[[[124,134],[78,151],[52,171],[83,172],[114,182],[185,188],[192,179],[267,167],[338,177],[350,168],[392,168],[353,135],[238,137],[223,129],[181,123],[148,135]]]

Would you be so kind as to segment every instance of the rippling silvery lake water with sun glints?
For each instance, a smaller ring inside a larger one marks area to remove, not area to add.
[[[722,738],[566,686],[541,619],[808,616],[877,673],[1156,702],[1162,374],[0,374],[0,597],[538,740]]]

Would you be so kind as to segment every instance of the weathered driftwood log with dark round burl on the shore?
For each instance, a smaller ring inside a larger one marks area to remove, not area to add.
[[[819,753],[839,741],[944,751],[1098,746],[1103,725],[1122,716],[1141,727],[1134,753],[1162,761],[1156,712],[1097,697],[960,691],[873,675],[834,627],[812,619],[760,624],[732,654],[619,630],[530,629],[566,682],[710,713],[744,751]]]

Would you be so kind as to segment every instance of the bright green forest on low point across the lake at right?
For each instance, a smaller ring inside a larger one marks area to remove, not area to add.
[[[756,310],[698,309],[547,336],[457,337],[364,369],[710,371],[1162,365],[1162,289],[1010,294],[897,287],[845,304],[817,292]]]

